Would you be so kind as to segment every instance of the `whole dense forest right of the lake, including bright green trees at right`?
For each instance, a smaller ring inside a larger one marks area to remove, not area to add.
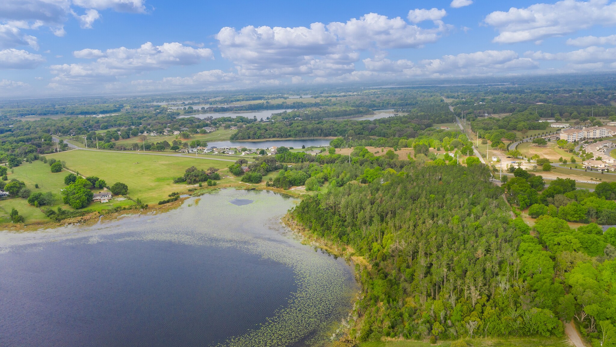
[[[367,184],[331,187],[291,212],[370,262],[352,338],[561,336],[561,320],[574,317],[590,338],[616,333],[616,228],[598,236],[596,225],[575,230],[546,215],[530,230],[511,219],[504,190],[483,165],[398,166]]]

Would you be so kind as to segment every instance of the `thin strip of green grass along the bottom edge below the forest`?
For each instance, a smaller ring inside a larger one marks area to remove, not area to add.
[[[527,338],[475,338],[465,340],[472,347],[570,347],[567,337],[527,337]],[[452,341],[439,341],[436,345],[423,341],[390,341],[390,342],[365,342],[360,343],[360,347],[430,347],[442,346],[449,347]]]

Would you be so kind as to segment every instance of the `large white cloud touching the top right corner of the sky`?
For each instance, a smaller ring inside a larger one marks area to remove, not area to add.
[[[534,4],[507,12],[495,11],[485,23],[499,31],[496,43],[538,41],[561,36],[593,25],[616,24],[616,2],[607,0],[562,0],[555,4]]]

